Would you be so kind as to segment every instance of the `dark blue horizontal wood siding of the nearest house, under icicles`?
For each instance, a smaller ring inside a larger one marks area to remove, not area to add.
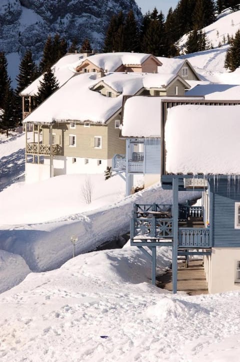
[[[240,182],[240,181],[239,181]],[[234,228],[235,202],[240,202],[237,181],[231,178],[211,180],[212,202],[212,242],[214,247],[240,247],[240,229]]]

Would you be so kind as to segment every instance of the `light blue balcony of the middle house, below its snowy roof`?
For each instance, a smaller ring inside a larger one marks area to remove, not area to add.
[[[112,158],[112,170],[143,172],[143,152],[132,152],[128,162],[125,154],[115,154]]]

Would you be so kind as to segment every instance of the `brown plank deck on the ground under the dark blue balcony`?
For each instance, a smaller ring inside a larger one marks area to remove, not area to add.
[[[171,280],[171,270],[169,270],[164,275],[156,277],[156,286],[171,291]],[[185,268],[185,263],[178,262],[177,291],[184,291],[189,295],[208,293],[202,260],[190,260],[188,268]]]

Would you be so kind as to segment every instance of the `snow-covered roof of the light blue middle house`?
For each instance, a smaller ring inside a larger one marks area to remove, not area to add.
[[[137,96],[124,104],[122,136],[160,137],[161,98]]]

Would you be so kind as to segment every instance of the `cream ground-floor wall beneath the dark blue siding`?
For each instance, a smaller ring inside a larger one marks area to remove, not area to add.
[[[208,268],[209,293],[240,291],[240,283],[235,283],[236,261],[240,261],[240,248],[212,248]]]

